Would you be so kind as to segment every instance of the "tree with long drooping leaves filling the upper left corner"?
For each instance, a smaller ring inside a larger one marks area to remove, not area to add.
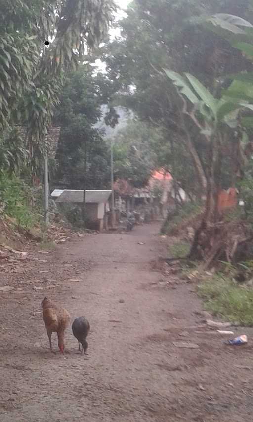
[[[63,72],[103,39],[113,10],[111,0],[0,2],[0,128],[27,125],[34,172]],[[45,50],[50,36],[54,40]]]

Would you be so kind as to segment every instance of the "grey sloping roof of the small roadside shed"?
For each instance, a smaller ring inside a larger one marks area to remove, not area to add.
[[[85,203],[106,203],[109,199],[111,190],[86,190]],[[56,199],[55,202],[59,203],[83,203],[84,191],[83,190],[64,190],[63,193]]]

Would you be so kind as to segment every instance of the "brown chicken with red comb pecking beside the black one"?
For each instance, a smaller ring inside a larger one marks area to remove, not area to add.
[[[61,353],[64,354],[64,333],[70,322],[70,314],[66,309],[55,305],[50,299],[47,299],[47,297],[44,297],[42,300],[42,308],[43,320],[49,339],[50,350],[53,352],[51,341],[52,332],[56,332],[58,337],[58,347]]]

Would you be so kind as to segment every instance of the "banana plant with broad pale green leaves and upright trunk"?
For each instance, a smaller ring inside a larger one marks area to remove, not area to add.
[[[193,75],[180,75],[164,69],[167,78],[176,87],[182,101],[182,112],[185,118],[190,118],[199,128],[205,144],[205,175],[207,180],[206,208],[198,235],[210,224],[216,224],[218,215],[218,193],[222,170],[222,152],[227,142],[228,133],[240,127],[243,110],[253,111],[253,86],[239,80],[233,80],[230,86],[222,92],[220,98],[215,98],[209,90]],[[233,153],[232,149],[230,149]],[[196,253],[198,238],[192,248]]]

